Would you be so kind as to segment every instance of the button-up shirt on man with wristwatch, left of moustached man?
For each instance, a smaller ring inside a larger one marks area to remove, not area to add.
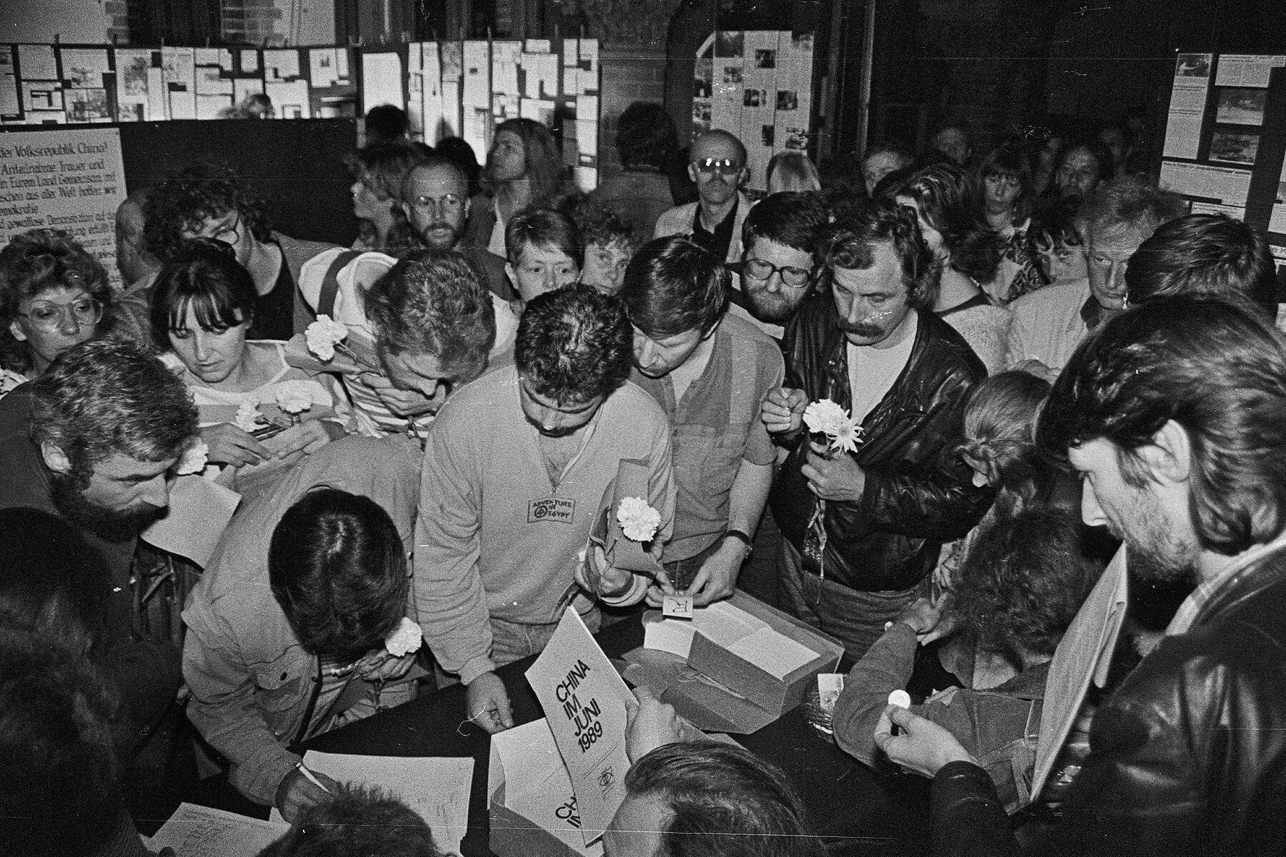
[[[759,407],[783,375],[777,343],[730,315],[715,330],[705,371],[680,400],[675,401],[669,375],[648,378],[638,369],[630,375],[670,418],[678,500],[665,561],[696,556],[723,536],[732,483],[743,460],[766,465],[777,459]]]

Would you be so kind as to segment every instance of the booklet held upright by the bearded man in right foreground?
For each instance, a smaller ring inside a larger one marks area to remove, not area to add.
[[[1031,780],[1033,800],[1040,795],[1040,786],[1053,770],[1058,750],[1067,740],[1080,704],[1089,690],[1089,682],[1093,681],[1100,687],[1107,684],[1107,669],[1111,667],[1116,637],[1125,621],[1128,600],[1123,546],[1107,564],[1089,597],[1080,605],[1076,618],[1062,635],[1049,663],[1044,708],[1040,714],[1040,736],[1037,740],[1035,775]]]

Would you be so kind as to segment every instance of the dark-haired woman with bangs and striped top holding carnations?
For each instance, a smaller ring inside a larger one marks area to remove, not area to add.
[[[246,338],[255,301],[249,274],[212,239],[192,239],[157,274],[152,294],[161,360],[192,392],[208,461],[225,465],[206,475],[243,493],[342,437],[349,421],[329,375],[288,366],[285,343]]]

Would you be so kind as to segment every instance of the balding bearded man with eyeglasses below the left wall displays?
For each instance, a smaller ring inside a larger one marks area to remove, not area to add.
[[[431,155],[406,173],[401,208],[424,247],[459,251],[484,276],[493,294],[507,302],[517,299],[504,257],[463,240],[469,217],[469,181],[454,162]]]

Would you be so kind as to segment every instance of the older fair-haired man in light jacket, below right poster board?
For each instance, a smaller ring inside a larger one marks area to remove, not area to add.
[[[1007,364],[1049,380],[1085,334],[1125,308],[1125,269],[1157,226],[1183,215],[1183,200],[1136,179],[1118,179],[1080,213],[1087,276],[1025,294],[1010,305]]]

